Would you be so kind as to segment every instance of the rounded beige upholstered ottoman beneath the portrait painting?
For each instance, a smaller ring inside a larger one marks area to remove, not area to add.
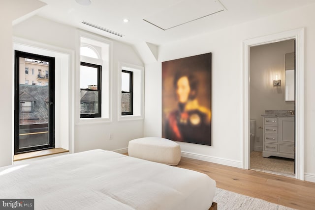
[[[181,147],[166,138],[137,138],[129,141],[128,155],[167,165],[177,165],[181,160]]]

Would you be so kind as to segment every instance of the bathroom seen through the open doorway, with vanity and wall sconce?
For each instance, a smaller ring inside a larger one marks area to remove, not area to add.
[[[249,168],[252,170],[295,177],[294,55],[295,39],[250,47]],[[293,84],[289,84],[286,72],[291,70]],[[293,97],[288,98],[289,93]]]

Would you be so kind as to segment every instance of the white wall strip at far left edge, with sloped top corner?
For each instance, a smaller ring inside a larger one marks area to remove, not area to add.
[[[0,2],[0,166],[12,164],[13,160],[13,68],[12,24],[45,3],[37,0],[1,0]]]

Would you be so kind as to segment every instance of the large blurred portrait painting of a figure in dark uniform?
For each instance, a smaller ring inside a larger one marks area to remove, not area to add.
[[[211,146],[211,53],[162,62],[162,137]]]

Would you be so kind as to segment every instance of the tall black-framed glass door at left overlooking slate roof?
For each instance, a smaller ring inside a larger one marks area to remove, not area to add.
[[[34,65],[49,71],[47,86],[29,84]],[[14,68],[14,154],[55,148],[55,58],[15,51]]]

